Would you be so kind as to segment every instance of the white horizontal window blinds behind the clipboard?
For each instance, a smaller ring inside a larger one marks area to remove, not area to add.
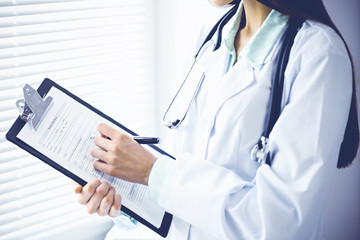
[[[110,226],[76,203],[71,180],[5,134],[23,85],[45,77],[136,132],[154,128],[152,4],[1,0],[0,239],[95,239]]]

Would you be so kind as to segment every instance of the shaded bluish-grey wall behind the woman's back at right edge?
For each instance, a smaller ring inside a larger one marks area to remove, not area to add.
[[[347,41],[360,79],[360,1],[325,0],[330,16]],[[357,95],[360,95],[359,86]],[[360,160],[338,170],[326,206],[327,239],[360,239]]]

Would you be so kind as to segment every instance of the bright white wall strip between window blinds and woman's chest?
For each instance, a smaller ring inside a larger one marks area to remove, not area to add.
[[[211,6],[207,0],[156,0],[155,42],[157,81],[157,129],[161,136],[162,116],[183,81],[193,57],[194,40],[199,29],[216,21],[224,9]]]

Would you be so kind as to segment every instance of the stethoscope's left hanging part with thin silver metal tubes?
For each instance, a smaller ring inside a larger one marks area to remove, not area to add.
[[[201,44],[199,50],[197,51],[197,53],[194,56],[194,62],[192,63],[192,65],[190,67],[190,70],[186,74],[184,81],[181,83],[178,91],[176,92],[174,98],[171,100],[168,108],[166,109],[166,111],[164,113],[164,116],[163,116],[163,125],[164,126],[170,128],[170,129],[176,129],[181,125],[181,123],[186,118],[191,106],[194,103],[194,100],[195,100],[196,95],[197,95],[197,93],[198,93],[198,91],[200,89],[200,86],[201,86],[202,82],[205,79],[205,73],[203,73],[202,76],[200,77],[199,82],[196,85],[195,91],[194,91],[194,93],[193,93],[193,95],[191,97],[191,100],[190,100],[188,106],[186,107],[185,112],[182,114],[182,117],[176,118],[175,120],[167,120],[167,115],[168,115],[169,110],[171,109],[171,107],[173,107],[173,104],[174,104],[176,98],[178,97],[179,93],[183,89],[184,84],[188,80],[189,75],[193,71],[195,64],[198,62],[199,58],[202,56],[202,54],[205,52],[205,50],[209,47],[209,45],[214,46],[212,51],[216,51],[217,49],[219,49],[219,47],[221,45],[221,41],[222,41],[222,29],[229,22],[229,20],[235,15],[238,7],[239,7],[239,4],[238,3],[235,4],[222,18],[220,18],[220,20],[214,25],[214,27],[209,32],[209,34],[205,38],[204,42]],[[214,44],[212,39],[213,39],[214,35],[216,34],[216,32],[217,32],[217,39],[216,39],[216,42]]]

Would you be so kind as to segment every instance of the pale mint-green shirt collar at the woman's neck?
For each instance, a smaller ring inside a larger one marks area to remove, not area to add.
[[[240,27],[242,18],[243,3],[234,15],[229,24],[224,27],[223,42],[230,53],[229,66],[234,65],[236,50],[235,50],[235,37]],[[238,59],[243,58],[253,68],[261,69],[265,63],[266,57],[269,55],[271,49],[275,45],[280,33],[283,31],[287,24],[289,17],[279,13],[276,10],[271,10],[262,26],[252,36],[246,46],[241,50]]]

